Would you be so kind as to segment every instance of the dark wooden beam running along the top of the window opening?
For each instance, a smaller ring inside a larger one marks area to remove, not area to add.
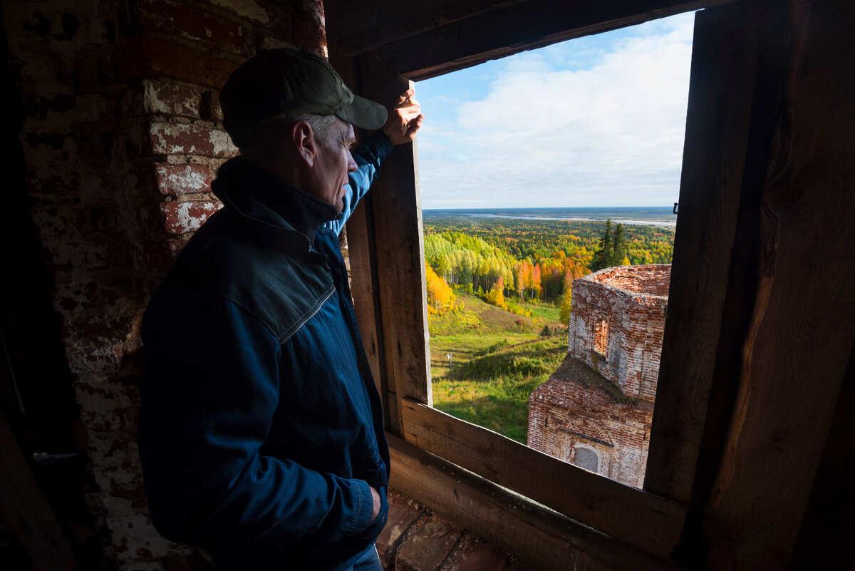
[[[410,79],[427,79],[519,51],[731,1],[529,0],[432,27],[383,44],[374,53]]]

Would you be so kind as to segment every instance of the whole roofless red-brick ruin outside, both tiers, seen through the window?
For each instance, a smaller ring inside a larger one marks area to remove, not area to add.
[[[670,265],[574,280],[568,356],[528,401],[528,445],[644,486]]]

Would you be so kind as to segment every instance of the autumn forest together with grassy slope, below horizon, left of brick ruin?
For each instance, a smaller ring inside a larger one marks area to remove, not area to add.
[[[572,283],[670,263],[674,230],[425,215],[433,405],[526,442],[528,396],[567,352]]]

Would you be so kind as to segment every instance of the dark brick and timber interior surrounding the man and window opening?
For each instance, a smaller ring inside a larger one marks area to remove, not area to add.
[[[536,569],[851,571],[855,3],[843,0],[0,0],[0,80],[17,102],[0,118],[0,568],[208,567],[148,519],[139,321],[219,206],[210,180],[236,150],[217,93],[239,63],[283,45],[326,53],[385,103],[410,80],[696,10],[643,488],[431,407],[409,145],[347,224],[392,487],[413,501],[382,539],[397,559],[429,529],[447,549],[433,569],[475,561],[427,506]],[[604,321],[608,340],[619,326]],[[177,353],[185,341],[174,332]],[[648,402],[655,375],[604,349],[598,367]],[[414,569],[427,561],[415,552]]]

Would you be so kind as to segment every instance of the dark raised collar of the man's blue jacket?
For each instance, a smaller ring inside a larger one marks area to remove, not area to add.
[[[271,229],[298,233],[303,240],[290,238],[308,240],[307,245],[315,241],[317,227],[341,216],[332,204],[251,166],[239,156],[221,166],[211,189],[227,208]]]

